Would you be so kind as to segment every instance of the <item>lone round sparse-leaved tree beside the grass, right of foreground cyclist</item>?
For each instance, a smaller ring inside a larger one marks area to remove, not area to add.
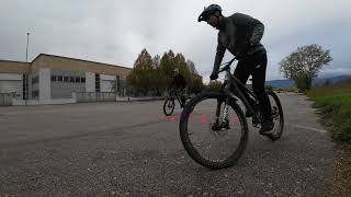
[[[295,81],[298,89],[309,90],[321,67],[331,60],[330,50],[314,44],[298,47],[280,62],[280,69],[285,78]]]

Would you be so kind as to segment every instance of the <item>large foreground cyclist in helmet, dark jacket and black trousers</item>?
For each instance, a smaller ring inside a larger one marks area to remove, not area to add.
[[[205,21],[219,31],[217,53],[213,72],[210,77],[211,80],[218,78],[219,65],[225,51],[228,49],[239,60],[234,76],[244,84],[252,76],[252,89],[258,96],[260,108],[264,116],[260,132],[269,132],[273,129],[274,124],[271,118],[270,100],[264,90],[267,51],[260,43],[264,32],[263,24],[259,20],[242,13],[224,16],[222,8],[218,4],[211,4],[205,8],[197,21]],[[245,94],[245,96],[252,105],[252,99],[248,94]],[[247,112],[247,117],[249,116],[252,116],[252,114]]]

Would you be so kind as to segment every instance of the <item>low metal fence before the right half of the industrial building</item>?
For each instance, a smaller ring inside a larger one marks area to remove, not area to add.
[[[76,93],[77,103],[88,103],[88,102],[115,102],[115,92],[77,92]]]

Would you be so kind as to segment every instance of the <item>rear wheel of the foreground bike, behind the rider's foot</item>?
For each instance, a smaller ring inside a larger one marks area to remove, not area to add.
[[[272,118],[274,121],[274,128],[273,131],[265,135],[271,140],[278,140],[282,137],[283,130],[284,130],[284,114],[283,114],[283,107],[282,104],[278,97],[278,95],[273,91],[267,92],[271,106],[272,106]]]

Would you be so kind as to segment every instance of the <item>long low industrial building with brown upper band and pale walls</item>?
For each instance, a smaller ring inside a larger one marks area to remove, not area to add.
[[[47,54],[32,62],[0,60],[0,105],[115,100],[125,94],[129,71],[126,67]]]

